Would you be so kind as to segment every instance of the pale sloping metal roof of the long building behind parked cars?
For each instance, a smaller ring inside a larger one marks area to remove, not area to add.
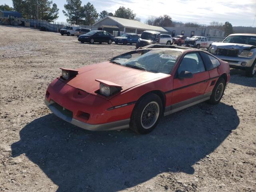
[[[162,27],[148,25],[148,24],[136,21],[136,20],[124,19],[124,18],[112,17],[112,16],[106,16],[102,20],[104,20],[106,18],[110,18],[110,19],[114,20],[115,22],[118,22],[120,25],[127,27],[127,28],[168,32],[166,29],[164,29]],[[99,20],[98,22],[101,22],[102,20]],[[98,22],[96,22],[95,24],[97,24]],[[95,25],[95,24],[93,24],[93,25]]]

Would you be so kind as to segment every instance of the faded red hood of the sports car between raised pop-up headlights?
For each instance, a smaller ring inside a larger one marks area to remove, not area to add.
[[[92,64],[77,69],[78,75],[67,82],[68,85],[84,90],[85,92],[96,94],[100,83],[95,79],[106,80],[122,86],[122,91],[128,90],[134,86],[168,76],[163,73],[152,73],[111,62]]]

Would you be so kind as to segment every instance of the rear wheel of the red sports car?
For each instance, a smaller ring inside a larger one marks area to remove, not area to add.
[[[218,104],[220,102],[225,91],[225,86],[226,81],[224,80],[224,78],[220,77],[212,90],[210,100],[208,100],[210,104]]]

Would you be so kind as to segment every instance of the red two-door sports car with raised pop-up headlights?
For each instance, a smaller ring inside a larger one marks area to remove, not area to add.
[[[56,116],[87,130],[140,134],[152,131],[162,115],[206,100],[217,104],[230,80],[228,63],[212,54],[160,44],[61,70],[45,96]]]

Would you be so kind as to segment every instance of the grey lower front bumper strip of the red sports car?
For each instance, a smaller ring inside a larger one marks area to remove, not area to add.
[[[90,130],[90,131],[106,131],[106,130],[120,130],[129,128],[130,119],[120,120],[116,122],[104,123],[104,124],[88,124],[82,121],[79,121],[71,116],[68,116],[64,110],[60,110],[56,105],[56,102],[51,100],[48,102],[47,99],[44,100],[44,103],[48,108],[59,118],[69,122],[80,128]]]

